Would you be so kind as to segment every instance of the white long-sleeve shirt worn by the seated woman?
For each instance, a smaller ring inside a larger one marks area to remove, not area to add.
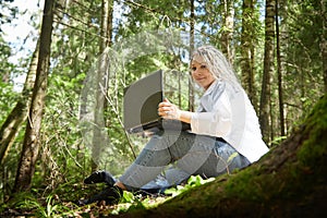
[[[191,131],[222,137],[251,162],[269,149],[262,140],[255,110],[244,89],[216,80],[191,118]]]

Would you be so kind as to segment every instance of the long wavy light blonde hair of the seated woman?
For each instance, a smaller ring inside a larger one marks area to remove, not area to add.
[[[235,76],[233,68],[227,61],[226,57],[213,46],[201,46],[192,55],[191,61],[202,58],[207,64],[208,70],[214,77],[221,78],[230,83],[234,87],[239,87],[240,83]]]

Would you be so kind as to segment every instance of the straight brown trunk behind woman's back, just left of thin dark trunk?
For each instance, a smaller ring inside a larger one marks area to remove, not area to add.
[[[269,118],[270,118],[270,80],[274,73],[274,16],[275,0],[266,0],[266,19],[265,19],[265,58],[264,75],[262,83],[259,122],[263,131],[263,137],[266,143],[269,142]]]

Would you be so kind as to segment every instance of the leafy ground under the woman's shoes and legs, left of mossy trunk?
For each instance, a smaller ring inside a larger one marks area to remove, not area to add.
[[[123,192],[118,205],[92,204],[80,207],[77,199],[94,195],[104,189],[104,184],[83,185],[80,183],[64,183],[52,192],[32,189],[32,192],[21,192],[0,206],[1,216],[28,217],[106,217],[126,211],[155,208],[167,199],[203,185],[214,179],[203,180],[191,177],[186,184],[178,185],[161,195],[144,196],[140,193]],[[1,217],[0,216],[0,217]]]

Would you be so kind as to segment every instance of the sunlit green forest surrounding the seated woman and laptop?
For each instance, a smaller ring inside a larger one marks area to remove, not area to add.
[[[15,45],[3,26],[28,14],[14,1],[0,0],[0,217],[219,217],[217,208],[222,217],[298,217],[299,208],[307,217],[326,215],[319,214],[327,193],[326,0],[35,1],[34,32],[22,39],[34,50],[13,61]],[[101,189],[84,178],[99,169],[122,174],[148,141],[124,131],[128,85],[162,69],[167,97],[196,109],[201,90],[189,63],[201,45],[217,47],[233,65],[268,156],[215,180],[192,177],[167,196],[124,192],[118,205],[76,205]],[[301,185],[312,195],[298,196]],[[253,202],[244,203],[249,196]]]

